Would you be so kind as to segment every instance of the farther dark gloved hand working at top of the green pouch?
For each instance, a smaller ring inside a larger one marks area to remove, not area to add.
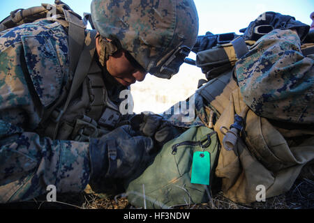
[[[174,139],[181,132],[158,114],[139,114],[130,119],[134,130],[140,131],[144,136],[155,140],[158,147]]]

